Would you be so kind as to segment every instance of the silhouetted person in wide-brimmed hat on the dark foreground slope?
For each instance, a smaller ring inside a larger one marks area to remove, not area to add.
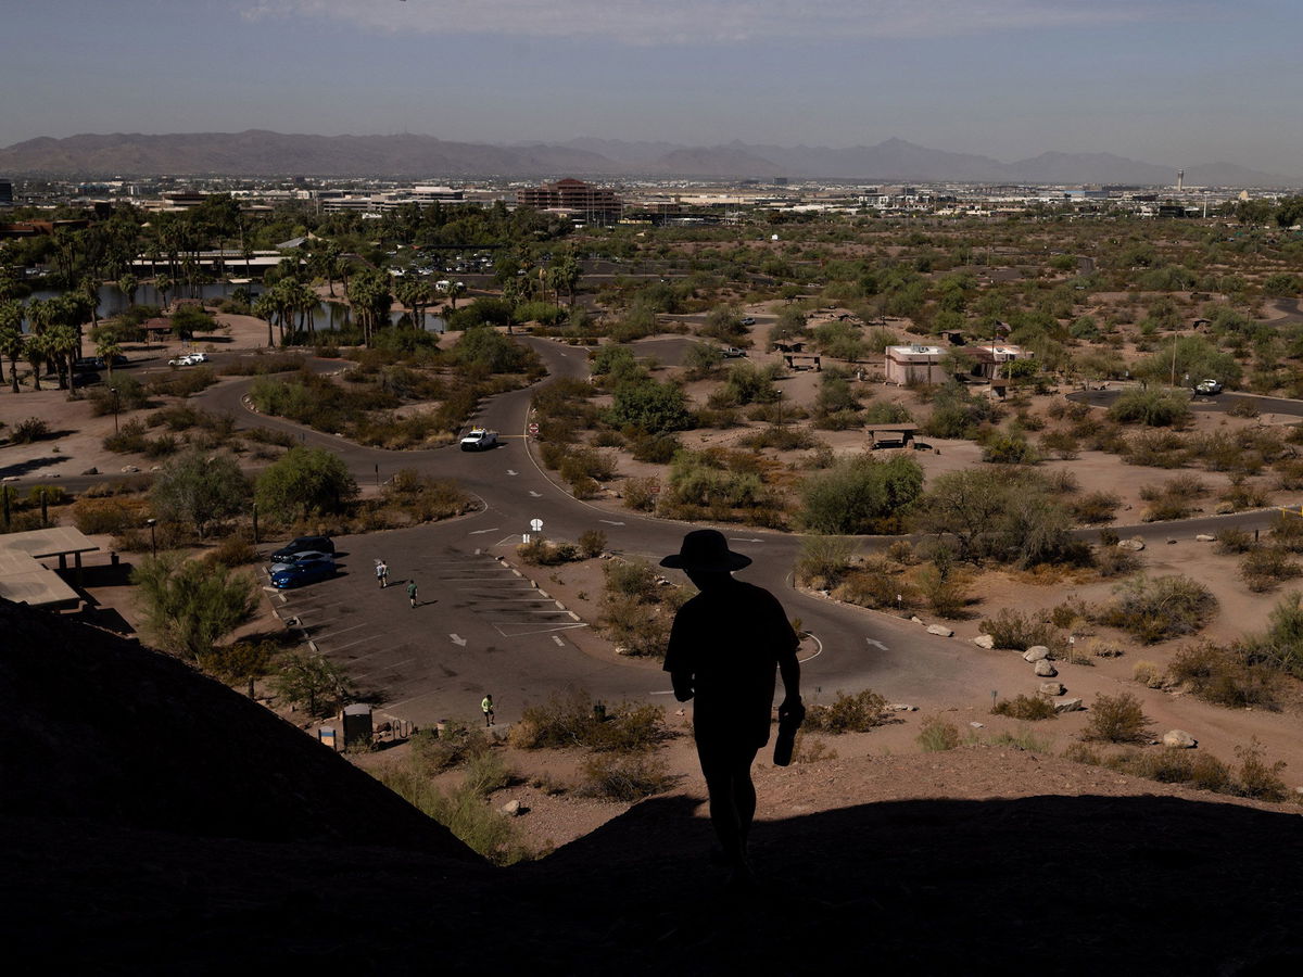
[[[714,529],[683,538],[679,552],[661,560],[681,569],[701,591],[674,619],[665,670],[680,702],[696,698],[693,732],[701,772],[710,792],[710,822],[732,870],[731,883],[751,882],[747,835],[756,817],[751,765],[769,743],[774,671],[783,676],[779,719],[804,716],[797,638],[778,599],[734,580],[751,563],[732,552]]]

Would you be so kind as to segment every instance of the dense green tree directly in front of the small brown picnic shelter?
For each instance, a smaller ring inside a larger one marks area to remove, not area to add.
[[[908,455],[846,459],[799,486],[807,529],[829,535],[891,531],[923,492],[923,469]]]

